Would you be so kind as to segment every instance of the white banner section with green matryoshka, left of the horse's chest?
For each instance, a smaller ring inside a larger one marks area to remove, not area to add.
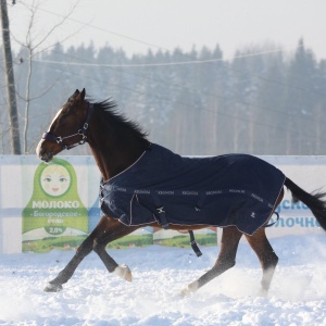
[[[68,250],[89,234],[100,181],[92,158],[2,156],[0,177],[0,252]]]

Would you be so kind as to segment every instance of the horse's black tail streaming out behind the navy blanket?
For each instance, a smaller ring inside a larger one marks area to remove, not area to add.
[[[299,200],[306,204],[314,216],[317,218],[321,226],[326,230],[326,192],[314,192],[309,193],[301,189],[289,178],[286,178],[285,186],[291,191],[293,202]]]

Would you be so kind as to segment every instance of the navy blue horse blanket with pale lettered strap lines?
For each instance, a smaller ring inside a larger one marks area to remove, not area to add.
[[[285,175],[248,154],[184,158],[152,143],[127,170],[101,183],[104,214],[125,225],[230,226],[253,235],[275,210]]]

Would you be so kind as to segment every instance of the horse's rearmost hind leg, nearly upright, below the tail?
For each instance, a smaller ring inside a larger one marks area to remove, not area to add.
[[[269,241],[266,238],[265,227],[261,227],[258,229],[252,236],[246,235],[246,238],[256,253],[262,268],[263,268],[263,277],[262,277],[262,288],[260,291],[261,296],[267,296],[272,278],[278,262],[278,256],[274,252]]]

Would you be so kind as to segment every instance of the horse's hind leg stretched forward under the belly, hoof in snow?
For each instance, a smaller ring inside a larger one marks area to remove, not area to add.
[[[236,264],[236,254],[241,236],[242,234],[235,226],[223,228],[221,250],[216,263],[199,279],[190,283],[187,288],[181,290],[180,294],[187,296],[197,291],[216,276],[233,267]]]

